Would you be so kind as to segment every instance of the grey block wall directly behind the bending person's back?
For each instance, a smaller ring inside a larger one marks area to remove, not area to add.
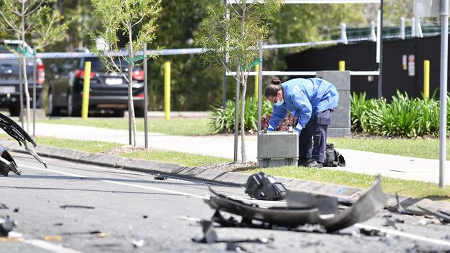
[[[334,109],[328,137],[350,136],[350,71],[317,71],[316,77],[331,82],[339,92],[339,105]]]

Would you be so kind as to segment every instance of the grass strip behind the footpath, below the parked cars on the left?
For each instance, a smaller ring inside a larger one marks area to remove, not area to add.
[[[128,118],[49,118],[39,120],[42,123],[70,124],[107,129],[128,130]],[[207,118],[149,119],[148,131],[169,135],[208,135],[211,134]],[[136,118],[137,131],[144,131],[143,118]]]

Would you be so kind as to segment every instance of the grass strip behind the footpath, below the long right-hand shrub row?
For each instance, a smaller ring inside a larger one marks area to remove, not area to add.
[[[334,147],[354,149],[398,156],[439,159],[438,139],[384,139],[384,138],[328,138]],[[447,140],[449,142],[449,140]],[[450,160],[450,147],[447,145],[447,160]]]

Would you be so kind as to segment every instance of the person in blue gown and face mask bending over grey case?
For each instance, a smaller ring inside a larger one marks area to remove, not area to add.
[[[328,125],[339,93],[330,82],[320,78],[296,78],[281,83],[271,80],[265,89],[273,103],[268,131],[274,131],[290,111],[298,118],[294,129],[300,133],[298,166],[321,168],[327,144]]]

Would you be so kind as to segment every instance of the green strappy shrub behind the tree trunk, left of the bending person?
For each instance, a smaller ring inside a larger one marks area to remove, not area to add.
[[[245,131],[258,130],[258,100],[247,97],[245,102]],[[211,106],[210,128],[214,133],[230,133],[235,129],[235,100],[228,100],[226,108],[222,105]],[[272,103],[262,100],[261,117],[272,112]],[[240,110],[239,110],[240,119]],[[240,126],[239,126],[240,127]]]

